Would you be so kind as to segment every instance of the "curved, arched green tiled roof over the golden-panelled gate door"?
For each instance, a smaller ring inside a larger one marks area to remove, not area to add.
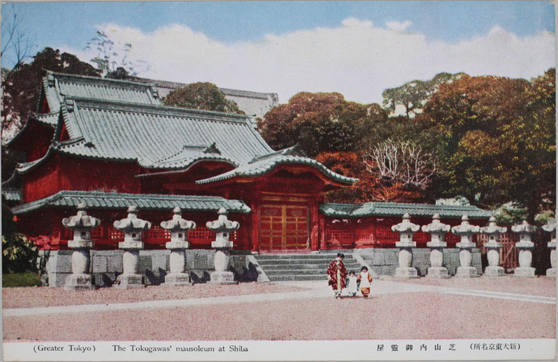
[[[351,177],[346,177],[337,174],[331,171],[331,169],[328,169],[321,163],[317,162],[317,160],[313,160],[312,158],[285,154],[285,151],[288,150],[290,149],[269,153],[269,155],[266,156],[259,156],[246,165],[241,165],[236,169],[232,169],[229,172],[225,172],[224,174],[220,174],[218,176],[214,176],[209,179],[196,181],[196,183],[211,183],[211,182],[222,181],[226,179],[232,179],[233,177],[237,177],[237,176],[240,177],[262,176],[263,174],[266,174],[267,172],[270,172],[271,170],[275,169],[279,165],[308,165],[319,170],[319,172],[322,172],[322,174],[327,176],[329,179],[332,179],[340,183],[354,183],[356,181],[359,181],[359,179],[352,179]]]

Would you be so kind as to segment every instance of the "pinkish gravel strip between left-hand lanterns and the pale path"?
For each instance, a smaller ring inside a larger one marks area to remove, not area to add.
[[[54,287],[20,287],[2,289],[3,308],[72,306],[79,304],[127,303],[167,299],[204,298],[277,292],[300,292],[303,288],[271,283],[240,283],[238,285],[195,284],[183,287],[149,285],[142,289],[100,288],[73,292]]]

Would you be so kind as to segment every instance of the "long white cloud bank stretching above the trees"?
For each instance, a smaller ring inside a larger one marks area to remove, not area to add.
[[[131,43],[130,56],[151,70],[140,74],[176,82],[213,82],[223,88],[276,92],[286,103],[300,91],[338,91],[347,100],[382,102],[382,91],[440,72],[536,77],[555,66],[555,35],[519,37],[495,26],[459,43],[403,33],[411,22],[347,18],[338,27],[317,27],[260,41],[222,43],[181,24],[151,33],[105,24],[116,43]],[[67,50],[68,51],[68,50]],[[94,54],[74,52],[89,60]]]

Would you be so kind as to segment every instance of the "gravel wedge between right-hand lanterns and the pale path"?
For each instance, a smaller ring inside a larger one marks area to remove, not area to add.
[[[439,285],[464,289],[490,290],[491,292],[506,292],[515,294],[529,294],[536,296],[556,296],[556,279],[541,276],[538,278],[518,278],[502,276],[497,278],[450,278],[430,279],[419,278],[410,280],[389,279],[395,282],[407,282],[419,285]]]

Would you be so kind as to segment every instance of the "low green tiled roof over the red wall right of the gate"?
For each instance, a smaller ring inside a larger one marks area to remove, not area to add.
[[[333,218],[362,218],[364,216],[410,216],[432,217],[438,213],[442,218],[489,218],[492,213],[476,206],[448,206],[431,204],[402,204],[398,202],[367,202],[365,204],[327,203],[319,206],[319,211]]]

